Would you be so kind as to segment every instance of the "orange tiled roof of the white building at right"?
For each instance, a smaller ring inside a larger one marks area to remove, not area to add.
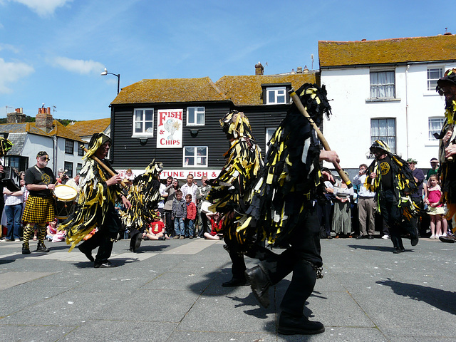
[[[452,61],[456,35],[379,41],[318,41],[320,68],[363,64]]]

